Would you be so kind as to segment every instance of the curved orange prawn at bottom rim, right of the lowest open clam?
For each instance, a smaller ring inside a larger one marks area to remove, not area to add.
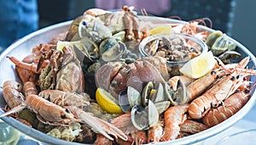
[[[171,141],[178,137],[180,126],[187,118],[187,111],[189,109],[189,103],[172,106],[166,110],[164,114],[165,128],[164,136],[161,137],[161,141]]]

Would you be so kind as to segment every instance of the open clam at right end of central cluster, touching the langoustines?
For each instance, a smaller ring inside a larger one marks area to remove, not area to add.
[[[186,103],[188,99],[186,86],[183,81],[177,81],[177,90],[174,91],[172,86],[168,83],[165,85],[166,96],[171,101],[172,105]]]

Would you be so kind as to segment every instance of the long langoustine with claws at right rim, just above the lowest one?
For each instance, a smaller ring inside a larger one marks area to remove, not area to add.
[[[255,70],[247,70],[244,68],[249,58],[241,60],[234,69],[228,68],[226,76],[220,78],[207,92],[200,97],[195,98],[189,105],[189,115],[193,119],[201,119],[211,109],[212,106],[218,107],[225,98],[236,92],[239,86],[243,85],[243,80],[247,75],[256,75]]]

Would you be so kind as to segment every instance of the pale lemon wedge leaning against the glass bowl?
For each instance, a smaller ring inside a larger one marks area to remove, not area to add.
[[[189,60],[189,62],[184,64],[179,71],[183,73],[183,75],[197,79],[210,72],[215,63],[216,60],[214,59],[212,52],[209,51],[207,53],[201,53],[198,57]]]

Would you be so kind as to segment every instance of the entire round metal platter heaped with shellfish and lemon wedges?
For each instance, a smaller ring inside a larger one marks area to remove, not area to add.
[[[0,117],[49,144],[212,137],[252,109],[256,61],[208,22],[124,6],[33,32],[1,54]]]

